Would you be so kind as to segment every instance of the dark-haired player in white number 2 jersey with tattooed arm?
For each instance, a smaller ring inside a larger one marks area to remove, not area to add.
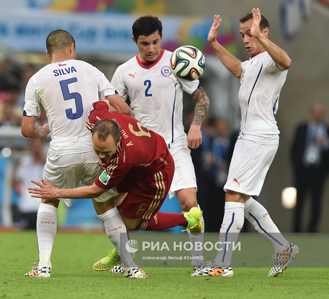
[[[112,78],[123,100],[130,99],[130,107],[143,125],[164,137],[175,162],[174,178],[169,198],[177,195],[183,213],[198,207],[196,177],[190,148],[202,142],[201,124],[209,110],[209,99],[199,80],[178,80],[169,67],[172,52],[161,48],[162,23],[156,16],[139,17],[132,26],[133,41],[139,54],[120,65]],[[183,126],[183,90],[194,99],[194,119],[188,134]],[[188,231],[192,244],[203,244],[203,232]],[[192,256],[203,256],[192,248]],[[201,262],[200,262],[201,261]],[[193,270],[203,267],[203,260],[192,260]]]

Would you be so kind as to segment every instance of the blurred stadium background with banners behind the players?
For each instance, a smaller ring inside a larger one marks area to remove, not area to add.
[[[192,156],[205,219],[221,218],[222,214],[212,207],[222,200],[221,184],[227,162],[211,147],[207,148],[206,140],[210,136],[228,145],[230,136],[239,129],[239,79],[213,55],[207,35],[213,15],[220,14],[221,44],[240,60],[249,59],[240,40],[239,18],[253,7],[259,7],[267,17],[270,39],[286,50],[293,62],[276,115],[281,132],[279,150],[259,196],[279,229],[291,232],[293,210],[283,207],[281,192],[293,186],[289,157],[292,137],[296,125],[308,118],[313,103],[322,103],[329,110],[328,0],[0,0],[0,228],[27,227],[38,208],[37,199],[29,198],[26,187],[32,176],[39,179],[38,173],[42,173],[49,140],[32,143],[21,135],[20,122],[25,85],[31,75],[48,63],[47,35],[55,29],[69,31],[76,41],[77,59],[91,63],[111,80],[116,67],[137,54],[131,26],[138,16],[146,14],[158,15],[163,22],[163,48],[194,45],[205,54],[201,83],[211,109],[203,126],[205,145],[192,151]],[[193,107],[187,95],[187,126]],[[44,122],[41,118],[40,123]],[[329,219],[325,217],[329,212],[328,198],[327,181],[320,232],[329,232]],[[90,200],[75,200],[70,209],[60,207],[58,224],[62,228],[103,231]],[[177,200],[167,199],[163,209],[179,211]],[[305,221],[307,217],[305,213]],[[218,231],[219,226],[212,229]]]

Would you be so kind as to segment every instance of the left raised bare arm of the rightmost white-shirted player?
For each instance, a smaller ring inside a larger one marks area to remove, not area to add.
[[[214,23],[211,26],[209,33],[208,33],[208,42],[214,49],[216,55],[222,62],[222,64],[237,78],[241,77],[242,68],[241,68],[241,61],[230,54],[226,49],[220,45],[217,40],[217,34],[222,23],[222,19],[219,18],[219,15],[214,16]]]

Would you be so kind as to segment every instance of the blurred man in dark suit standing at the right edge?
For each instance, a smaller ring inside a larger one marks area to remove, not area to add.
[[[317,232],[320,222],[323,185],[328,173],[329,127],[323,121],[324,108],[316,103],[311,107],[311,118],[298,125],[291,148],[297,205],[294,231],[301,232],[305,194],[311,191],[310,223],[308,232]]]

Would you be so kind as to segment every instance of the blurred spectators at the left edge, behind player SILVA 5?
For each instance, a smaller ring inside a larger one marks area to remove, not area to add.
[[[36,72],[37,69],[33,65],[18,65],[0,52],[0,130],[3,132],[8,133],[9,128],[12,127],[20,128],[23,117],[25,87]],[[43,125],[45,123],[47,123],[47,117],[42,109],[38,124]],[[15,226],[35,228],[36,214],[40,202],[30,200],[27,186],[32,176],[36,180],[39,180],[42,176],[48,143],[47,141],[33,139],[24,139],[22,142],[22,138],[16,139],[2,138],[1,140],[1,148],[8,146],[14,150],[11,159],[14,169],[18,169],[18,171],[14,170],[12,181],[13,220]],[[0,157],[1,189],[4,188],[7,163],[6,158]]]

